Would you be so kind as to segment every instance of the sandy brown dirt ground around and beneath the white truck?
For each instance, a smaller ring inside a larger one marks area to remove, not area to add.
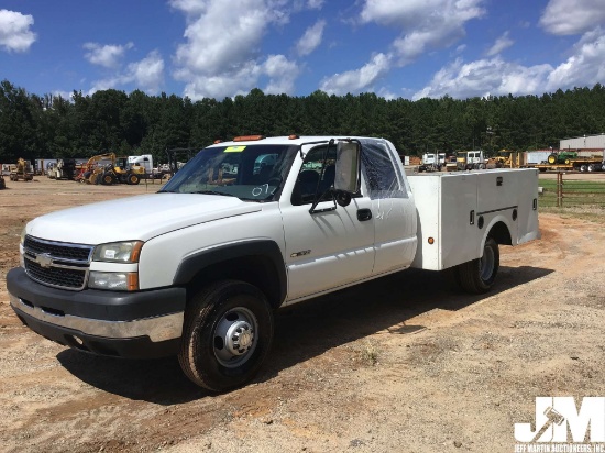
[[[4,277],[26,221],[160,186],[7,185],[0,451],[513,452],[514,424],[534,423],[537,396],[605,396],[603,211],[593,221],[542,213],[540,241],[501,248],[486,296],[407,270],[279,311],[255,382],[212,395],[176,358],[67,350],[9,306]]]

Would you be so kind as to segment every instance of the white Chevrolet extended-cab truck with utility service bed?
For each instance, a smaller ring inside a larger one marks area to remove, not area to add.
[[[537,237],[535,169],[406,177],[387,140],[246,136],[201,150],[157,194],[32,220],[7,287],[50,340],[178,355],[223,391],[261,367],[279,307],[410,266],[484,292],[498,244]]]

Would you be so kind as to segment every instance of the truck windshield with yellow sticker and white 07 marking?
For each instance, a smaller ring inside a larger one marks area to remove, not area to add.
[[[298,146],[238,145],[201,150],[161,190],[277,200]]]

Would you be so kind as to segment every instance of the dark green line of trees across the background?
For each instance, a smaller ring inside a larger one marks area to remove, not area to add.
[[[558,90],[542,96],[464,100],[384,99],[374,93],[265,95],[191,101],[109,89],[74,91],[72,99],[29,93],[0,82],[0,162],[19,157],[89,157],[201,148],[237,135],[366,135],[391,140],[399,153],[453,153],[483,148],[557,148],[561,139],[605,132],[605,88]]]

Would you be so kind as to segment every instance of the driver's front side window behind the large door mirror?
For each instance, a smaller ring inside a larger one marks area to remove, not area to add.
[[[336,146],[312,148],[300,167],[292,195],[295,206],[310,205],[316,197],[331,199],[330,188],[334,184]]]

